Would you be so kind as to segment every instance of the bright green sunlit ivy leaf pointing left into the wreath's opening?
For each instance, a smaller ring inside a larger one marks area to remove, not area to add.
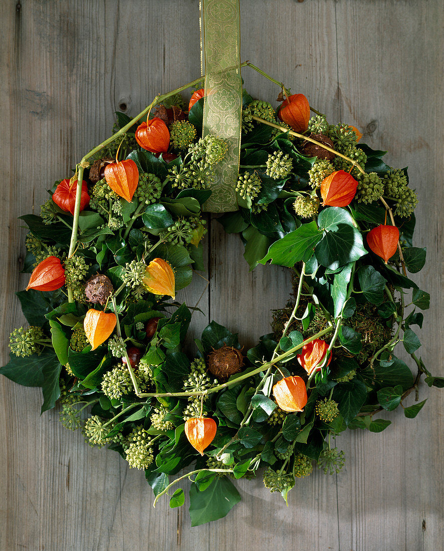
[[[314,221],[302,224],[297,230],[275,241],[259,262],[265,264],[271,260],[271,264],[292,268],[297,262],[301,260],[307,262],[312,257],[314,246],[320,239],[322,239],[322,233]]]

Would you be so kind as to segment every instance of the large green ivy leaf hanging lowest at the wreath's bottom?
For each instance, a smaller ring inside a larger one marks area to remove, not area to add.
[[[199,526],[226,516],[240,499],[239,492],[227,477],[216,478],[204,491],[199,491],[196,484],[191,484],[191,526]]]

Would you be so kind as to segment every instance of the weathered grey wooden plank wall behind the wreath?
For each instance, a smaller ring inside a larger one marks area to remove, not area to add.
[[[14,291],[24,235],[18,215],[38,208],[46,187],[109,135],[113,112],[136,114],[156,93],[200,74],[196,0],[2,0],[1,356],[24,321]],[[416,280],[432,293],[420,350],[444,375],[442,301],[443,35],[441,0],[240,0],[242,60],[332,122],[355,125],[363,140],[409,166],[420,205],[416,245],[429,262]],[[270,82],[244,69],[245,86],[274,99]],[[38,211],[37,211],[38,212]],[[210,286],[196,315],[199,333],[214,318],[249,346],[269,331],[269,310],[286,300],[279,268],[252,274],[236,236],[211,225]],[[196,277],[181,298],[205,289]],[[429,397],[414,420],[402,411],[382,434],[338,438],[346,453],[337,477],[314,472],[286,507],[261,480],[238,482],[243,501],[223,520],[189,526],[187,506],[156,510],[143,474],[115,452],[39,417],[40,391],[0,380],[0,549],[59,550],[419,550],[442,549],[443,397]]]

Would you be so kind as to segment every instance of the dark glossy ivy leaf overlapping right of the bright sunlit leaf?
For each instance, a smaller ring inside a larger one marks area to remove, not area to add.
[[[319,264],[336,269],[359,260],[367,251],[362,243],[361,232],[353,226],[341,223],[335,231],[327,231],[317,244],[314,254]]]

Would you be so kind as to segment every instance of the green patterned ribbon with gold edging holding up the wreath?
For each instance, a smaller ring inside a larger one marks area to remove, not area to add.
[[[207,212],[237,210],[236,182],[239,173],[242,123],[240,77],[239,0],[203,0],[205,51],[205,104],[202,135],[213,134],[228,145],[211,182]]]

